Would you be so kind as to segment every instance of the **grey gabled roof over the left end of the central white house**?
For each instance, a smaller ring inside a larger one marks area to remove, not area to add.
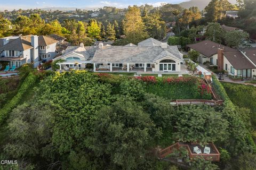
[[[68,46],[68,48],[65,50],[65,52],[61,56],[56,57],[53,60],[59,60],[59,59],[64,58],[70,54],[74,54],[74,55],[83,57],[85,60],[87,60],[90,57],[90,54],[86,51],[86,49],[84,47]]]

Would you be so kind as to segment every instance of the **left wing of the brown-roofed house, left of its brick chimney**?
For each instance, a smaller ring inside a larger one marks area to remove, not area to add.
[[[204,40],[196,44],[187,45],[190,50],[196,50],[200,53],[198,62],[204,64],[209,62],[212,65],[217,65],[218,63],[218,49],[221,48],[224,51],[235,51],[236,49],[223,46],[218,43],[214,43],[210,40]]]

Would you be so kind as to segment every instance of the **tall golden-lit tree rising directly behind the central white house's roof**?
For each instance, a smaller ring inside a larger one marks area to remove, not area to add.
[[[148,38],[145,24],[140,15],[140,9],[137,6],[129,6],[124,18],[124,33],[126,39],[130,43],[137,44],[140,41]]]

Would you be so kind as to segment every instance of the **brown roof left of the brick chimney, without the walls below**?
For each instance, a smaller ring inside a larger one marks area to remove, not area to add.
[[[223,46],[218,43],[214,43],[213,41],[210,40],[204,40],[196,44],[189,44],[187,45],[188,47],[196,50],[197,52],[205,55],[206,57],[211,57],[214,54],[218,53],[218,48],[224,49],[225,52],[234,52],[236,49]]]

